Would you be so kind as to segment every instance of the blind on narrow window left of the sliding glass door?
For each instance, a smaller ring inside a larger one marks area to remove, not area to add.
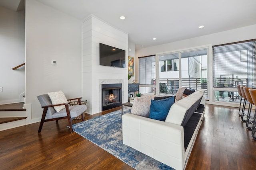
[[[139,57],[140,84],[153,85],[156,78],[156,56]]]

